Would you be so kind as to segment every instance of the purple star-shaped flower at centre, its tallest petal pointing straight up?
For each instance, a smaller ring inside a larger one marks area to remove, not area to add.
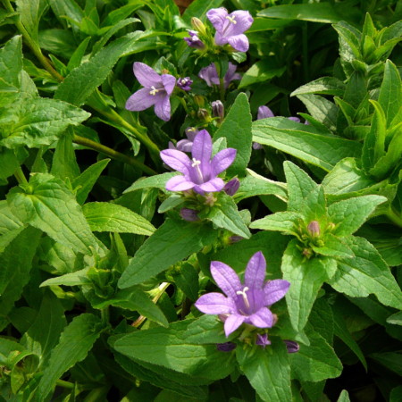
[[[198,194],[221,191],[224,181],[217,177],[227,169],[236,157],[236,149],[226,148],[212,157],[212,139],[208,131],[201,130],[193,141],[192,159],[177,149],[161,152],[163,162],[175,171],[183,173],[174,176],[166,183],[169,191],[185,191],[193,188]]]

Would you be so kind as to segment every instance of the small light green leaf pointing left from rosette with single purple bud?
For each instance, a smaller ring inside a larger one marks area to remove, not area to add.
[[[290,211],[279,212],[267,215],[262,219],[251,222],[251,229],[277,230],[287,234],[297,236],[298,223],[303,220],[302,214]]]

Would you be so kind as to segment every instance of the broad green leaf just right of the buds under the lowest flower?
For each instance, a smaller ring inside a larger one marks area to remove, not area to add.
[[[342,364],[331,345],[314,331],[311,324],[306,326],[306,335],[310,346],[300,344],[298,352],[289,356],[292,378],[316,382],[339,377]]]

